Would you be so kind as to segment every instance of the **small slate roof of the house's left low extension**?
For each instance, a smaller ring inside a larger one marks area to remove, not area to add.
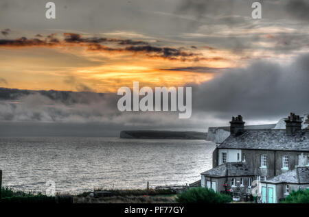
[[[237,176],[251,176],[254,175],[253,170],[245,163],[225,163],[220,166],[216,166],[211,170],[207,170],[201,175],[209,177],[237,177]]]

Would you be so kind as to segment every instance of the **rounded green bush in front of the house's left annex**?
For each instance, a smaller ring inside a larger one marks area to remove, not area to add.
[[[231,196],[220,194],[208,188],[190,188],[185,192],[177,195],[178,203],[229,203]]]

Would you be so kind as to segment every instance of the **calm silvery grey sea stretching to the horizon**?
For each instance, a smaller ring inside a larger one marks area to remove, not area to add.
[[[0,138],[3,186],[45,192],[185,185],[211,168],[216,144],[205,140]]]

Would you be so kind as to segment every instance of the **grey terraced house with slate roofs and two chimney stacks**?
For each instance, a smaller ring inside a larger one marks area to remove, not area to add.
[[[244,129],[242,116],[233,117],[231,135],[214,150],[213,168],[201,173],[201,186],[233,192],[233,199],[241,200],[259,181],[262,203],[277,203],[292,188],[308,188],[309,129],[301,129],[303,120],[293,113],[285,122],[286,129]]]

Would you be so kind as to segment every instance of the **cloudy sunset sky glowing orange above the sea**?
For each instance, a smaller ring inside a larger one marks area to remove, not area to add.
[[[78,93],[69,102],[40,93],[1,100],[0,125],[207,131],[232,115],[259,124],[307,114],[309,1],[260,1],[261,19],[251,17],[253,2],[59,0],[47,19],[47,1],[2,0],[0,86],[89,93],[87,101]],[[192,117],[119,112],[117,89],[133,81],[192,86]]]

